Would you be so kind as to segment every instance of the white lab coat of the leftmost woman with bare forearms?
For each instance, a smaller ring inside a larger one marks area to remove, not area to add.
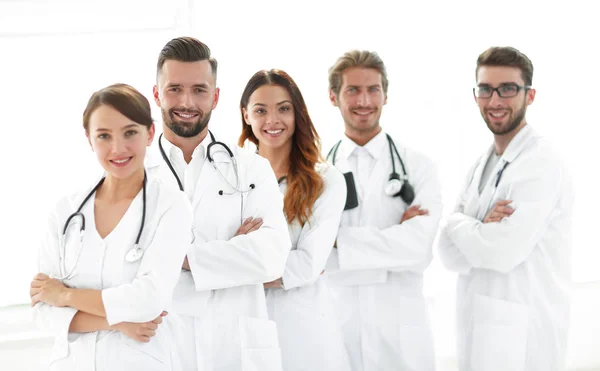
[[[93,184],[95,185],[95,183]],[[40,250],[39,271],[62,277],[59,239],[64,223],[74,213],[92,187],[63,198],[49,218],[49,227]],[[64,281],[74,288],[102,290],[109,325],[120,322],[148,322],[163,310],[169,311],[173,290],[187,248],[192,240],[192,213],[185,195],[173,192],[159,180],[148,177],[146,221],[140,239],[145,250],[141,259],[127,262],[125,254],[133,247],[142,220],[142,191],[132,201],[123,218],[104,239],[94,220],[95,194],[81,212],[85,233],[76,275]],[[67,230],[67,273],[77,260],[81,219],[74,218]],[[172,370],[171,334],[168,316],[149,343],[137,342],[119,331],[69,333],[77,309],[38,303],[33,309],[40,327],[54,334],[50,370]]]

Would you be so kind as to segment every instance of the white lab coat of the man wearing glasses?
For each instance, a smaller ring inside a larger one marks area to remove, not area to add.
[[[493,146],[470,171],[440,233],[444,265],[459,273],[461,371],[564,369],[569,319],[571,179],[551,146],[529,126],[513,138],[481,195]],[[494,185],[504,163],[498,188]],[[482,221],[498,200],[514,213]]]

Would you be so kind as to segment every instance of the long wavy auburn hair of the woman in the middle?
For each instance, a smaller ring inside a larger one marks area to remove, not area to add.
[[[294,106],[295,130],[292,136],[292,151],[287,174],[287,191],[283,198],[283,210],[288,223],[298,219],[304,225],[312,215],[312,207],[323,192],[323,178],[315,169],[321,157],[321,139],[313,125],[306,103],[298,85],[285,71],[272,69],[261,70],[254,74],[246,84],[240,99],[242,114],[242,133],[238,140],[240,147],[246,139],[259,145],[252,132],[252,127],[244,120],[244,109],[247,108],[250,96],[263,85],[281,86],[290,94]]]

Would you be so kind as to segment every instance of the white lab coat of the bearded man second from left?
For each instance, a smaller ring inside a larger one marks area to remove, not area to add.
[[[251,184],[254,189],[227,194],[234,190],[223,176],[235,185],[234,167],[223,147],[213,146],[222,176],[205,158],[196,187],[188,193],[195,242],[187,252],[191,271],[182,271],[173,298],[174,348],[186,371],[280,371],[277,326],[268,320],[263,283],[281,277],[291,247],[283,197],[267,160],[238,146],[229,148],[237,160],[240,189]],[[158,146],[147,166],[178,187]],[[241,219],[255,215],[263,219],[262,227],[234,237]]]

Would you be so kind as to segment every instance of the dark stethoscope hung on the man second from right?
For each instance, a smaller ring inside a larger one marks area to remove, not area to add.
[[[386,133],[385,136],[387,138],[388,146],[390,149],[390,158],[392,160],[392,173],[390,174],[388,182],[385,185],[384,192],[387,196],[390,197],[400,197],[402,201],[410,205],[415,199],[415,190],[413,186],[408,182],[408,174],[406,173],[406,168],[404,167],[404,161],[402,161],[402,157],[398,152],[398,148],[396,148],[396,144],[394,143],[392,137],[390,137],[389,134]],[[329,150],[329,153],[327,154],[328,159],[330,157],[332,158],[332,163],[334,166],[335,159],[337,157],[337,152],[341,144],[342,141],[338,141],[331,148],[331,150]],[[402,174],[398,174],[396,172],[396,161],[394,159],[394,153],[396,154],[396,157],[398,157],[398,161],[400,162],[400,166],[402,167]],[[352,172],[345,173],[344,177],[346,178],[346,187],[348,191],[344,210],[350,210],[358,206],[356,185],[354,182]]]

